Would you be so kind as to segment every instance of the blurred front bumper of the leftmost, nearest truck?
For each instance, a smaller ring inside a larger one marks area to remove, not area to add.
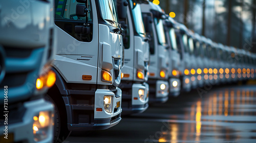
[[[19,111],[21,108],[24,108],[24,110]],[[1,129],[3,130],[5,129],[5,126],[8,126],[8,142],[35,142],[33,134],[33,117],[40,111],[49,111],[50,115],[52,115],[52,113],[54,113],[54,106],[44,99],[39,99],[25,102],[22,107],[18,107],[15,111],[10,110],[8,113],[8,125],[1,124]],[[47,138],[39,142],[53,141],[53,116],[50,117],[52,118],[50,121],[51,123],[49,123]],[[5,133],[3,130],[0,131],[1,135]]]

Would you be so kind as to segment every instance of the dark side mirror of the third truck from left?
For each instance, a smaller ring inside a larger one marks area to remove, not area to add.
[[[116,0],[117,14],[119,19],[125,19],[127,14],[127,0]]]

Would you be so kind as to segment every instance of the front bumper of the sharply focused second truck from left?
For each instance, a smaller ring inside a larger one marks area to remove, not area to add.
[[[112,112],[104,110],[104,96],[112,96]],[[115,126],[121,121],[121,99],[122,91],[116,87],[116,92],[109,89],[97,89],[95,91],[94,105],[82,104],[73,105],[65,99],[66,109],[68,112],[68,129],[70,131],[87,131],[87,130],[104,130]],[[119,106],[120,105],[120,106]],[[118,107],[119,106],[119,107]],[[102,111],[96,111],[96,108],[101,108]],[[94,114],[94,115],[93,115]]]

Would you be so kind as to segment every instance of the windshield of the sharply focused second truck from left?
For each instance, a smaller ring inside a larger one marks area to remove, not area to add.
[[[115,6],[112,0],[99,0],[102,18],[109,25],[118,28]]]

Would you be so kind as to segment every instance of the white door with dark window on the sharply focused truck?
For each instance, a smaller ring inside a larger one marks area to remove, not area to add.
[[[97,22],[93,22],[97,21],[96,6],[89,1],[86,23],[87,17],[76,15],[77,4],[75,0],[55,0],[58,43],[54,67],[65,75],[66,82],[84,83],[82,75],[91,75],[92,80],[86,82],[97,84],[98,27]]]

